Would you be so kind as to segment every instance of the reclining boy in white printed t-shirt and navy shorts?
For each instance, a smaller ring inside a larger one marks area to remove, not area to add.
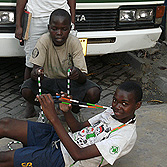
[[[67,97],[63,94],[62,97]],[[0,138],[21,141],[23,148],[0,152],[0,166],[97,167],[127,154],[136,141],[135,111],[142,102],[142,89],[134,81],[118,86],[112,100],[112,109],[86,122],[78,122],[71,113],[71,104],[60,103],[67,133],[55,111],[50,94],[37,96],[51,125],[11,118],[0,120]],[[68,98],[68,97],[67,97]]]

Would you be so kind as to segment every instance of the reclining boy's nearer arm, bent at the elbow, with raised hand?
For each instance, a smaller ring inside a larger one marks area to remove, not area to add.
[[[75,142],[71,139],[71,137],[68,135],[67,131],[61,124],[55,111],[54,101],[50,94],[37,96],[37,98],[42,106],[45,116],[53,125],[61,142],[74,161],[85,160],[101,155],[95,145],[80,148],[77,144],[75,144]],[[68,111],[68,109],[68,105],[64,104],[64,111]]]

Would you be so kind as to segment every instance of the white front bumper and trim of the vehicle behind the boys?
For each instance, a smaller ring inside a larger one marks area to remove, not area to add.
[[[127,3],[77,3],[77,9],[117,9],[123,5],[162,4],[163,1]],[[15,6],[15,3],[1,3],[1,6]],[[87,45],[87,55],[126,52],[153,47],[161,34],[161,28],[78,32],[78,38],[98,39],[98,43]],[[115,38],[112,43],[100,43],[100,38]],[[15,39],[14,33],[0,33],[0,57],[24,56],[23,46]]]

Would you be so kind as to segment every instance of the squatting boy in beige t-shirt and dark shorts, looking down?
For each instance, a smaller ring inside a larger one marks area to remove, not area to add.
[[[101,88],[86,78],[87,66],[79,39],[70,33],[71,17],[63,9],[51,13],[49,32],[38,40],[30,58],[34,64],[31,79],[26,80],[21,93],[29,102],[26,112],[33,116],[34,99],[39,93],[38,76],[41,76],[42,93],[67,91],[67,71],[70,68],[70,94],[79,101],[97,103],[100,99]],[[42,70],[41,70],[42,69]],[[74,111],[75,110],[75,111]],[[79,108],[73,107],[78,113]]]

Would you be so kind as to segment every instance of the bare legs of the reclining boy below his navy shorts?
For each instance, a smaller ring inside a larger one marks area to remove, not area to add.
[[[7,137],[27,145],[27,121],[3,118],[0,120],[0,138]],[[0,166],[13,167],[15,151],[0,152]]]

